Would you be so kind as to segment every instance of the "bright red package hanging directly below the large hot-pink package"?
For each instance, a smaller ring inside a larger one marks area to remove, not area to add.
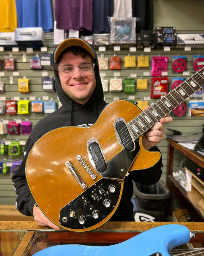
[[[168,93],[168,77],[153,77],[151,98],[160,98]]]

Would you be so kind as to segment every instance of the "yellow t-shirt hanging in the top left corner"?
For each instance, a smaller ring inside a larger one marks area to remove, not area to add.
[[[14,32],[17,27],[15,0],[0,0],[0,32]]]

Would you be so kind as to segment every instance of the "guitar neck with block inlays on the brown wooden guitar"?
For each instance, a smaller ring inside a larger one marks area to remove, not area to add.
[[[134,139],[148,131],[161,118],[179,106],[189,96],[204,85],[204,68],[197,71],[174,90],[163,96],[140,115],[129,121],[129,129]]]

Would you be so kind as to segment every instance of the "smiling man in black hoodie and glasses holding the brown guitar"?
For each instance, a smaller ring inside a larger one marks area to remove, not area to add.
[[[17,195],[16,208],[24,215],[34,216],[36,223],[41,226],[60,229],[42,213],[34,201],[26,181],[26,159],[42,135],[62,126],[93,125],[107,103],[103,99],[98,58],[91,45],[79,38],[68,38],[58,45],[53,57],[55,86],[62,106],[34,126],[26,142],[23,161],[12,180]],[[142,144],[145,149],[158,151],[155,145],[164,137],[163,124],[171,120],[170,116],[162,118],[144,134]],[[121,202],[111,221],[132,220],[132,180],[146,185],[154,184],[160,179],[161,167],[162,158],[153,167],[133,171],[125,178]]]

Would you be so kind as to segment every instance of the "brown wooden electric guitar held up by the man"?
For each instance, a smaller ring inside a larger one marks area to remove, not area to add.
[[[26,161],[28,185],[41,211],[70,231],[106,223],[119,205],[125,176],[160,159],[160,152],[144,149],[142,135],[203,85],[204,68],[145,111],[117,100],[90,127],[43,135]]]

